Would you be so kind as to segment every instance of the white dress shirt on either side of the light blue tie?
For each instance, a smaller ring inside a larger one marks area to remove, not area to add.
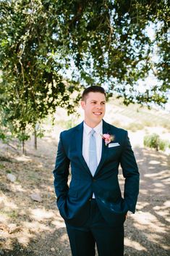
[[[86,125],[84,122],[83,124],[83,136],[82,136],[82,156],[85,159],[85,162],[88,165],[89,162],[89,142],[90,142],[90,131],[92,130],[91,127]],[[95,128],[93,128],[95,131],[95,141],[96,141],[96,149],[97,149],[97,162],[101,161],[101,149],[102,149],[102,132],[103,132],[103,121],[101,120],[101,123],[99,123]],[[89,166],[89,165],[88,165]]]

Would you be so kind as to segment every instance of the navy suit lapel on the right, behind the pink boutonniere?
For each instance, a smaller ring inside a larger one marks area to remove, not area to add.
[[[104,133],[110,133],[110,126],[108,123],[106,123],[103,120],[103,134]],[[100,171],[104,161],[106,160],[106,156],[107,156],[107,151],[108,151],[108,146],[105,145],[105,141],[102,139],[102,149],[101,149],[101,161],[98,164],[98,168],[95,171],[95,176],[98,174],[98,172]]]

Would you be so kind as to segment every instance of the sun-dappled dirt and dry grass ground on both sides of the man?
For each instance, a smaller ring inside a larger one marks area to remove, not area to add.
[[[46,136],[39,147],[35,152],[30,141],[25,157],[0,146],[0,255],[71,256],[64,221],[55,205],[51,170],[56,141]],[[134,151],[140,196],[136,214],[125,222],[124,256],[169,256],[169,157],[139,147]],[[9,182],[7,173],[17,181]],[[43,201],[34,202],[33,193]]]

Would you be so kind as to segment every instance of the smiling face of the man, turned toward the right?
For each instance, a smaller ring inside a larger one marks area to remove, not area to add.
[[[90,92],[85,101],[81,102],[82,109],[85,111],[85,123],[94,128],[101,122],[104,114],[106,97],[100,92]]]

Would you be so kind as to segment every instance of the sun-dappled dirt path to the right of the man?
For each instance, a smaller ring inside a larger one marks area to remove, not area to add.
[[[168,256],[169,157],[150,149],[135,149],[140,168],[140,196],[137,212],[125,223],[126,256]]]

